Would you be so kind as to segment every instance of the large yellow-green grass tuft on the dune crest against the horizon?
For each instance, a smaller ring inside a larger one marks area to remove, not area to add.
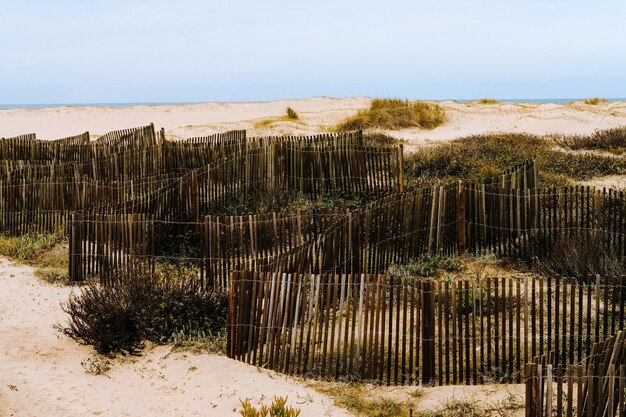
[[[374,99],[369,109],[340,122],[340,132],[363,129],[403,129],[421,127],[434,129],[446,121],[443,108],[437,103],[397,99]]]

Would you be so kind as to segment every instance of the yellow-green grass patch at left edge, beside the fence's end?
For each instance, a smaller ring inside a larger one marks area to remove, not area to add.
[[[0,236],[0,256],[34,267],[35,276],[50,283],[68,282],[67,250],[65,237],[57,234]]]

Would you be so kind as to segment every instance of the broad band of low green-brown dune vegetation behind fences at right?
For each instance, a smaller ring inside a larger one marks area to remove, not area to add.
[[[469,136],[407,155],[405,179],[412,185],[458,179],[489,180],[530,159],[537,161],[541,180],[548,186],[626,173],[623,158],[567,152],[556,145],[549,137],[528,134]]]

